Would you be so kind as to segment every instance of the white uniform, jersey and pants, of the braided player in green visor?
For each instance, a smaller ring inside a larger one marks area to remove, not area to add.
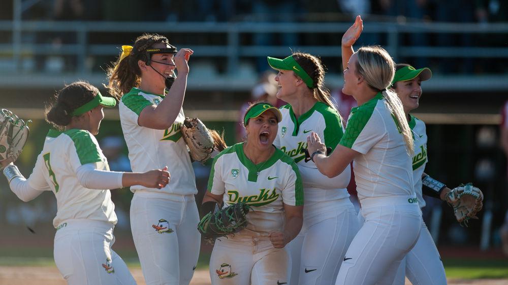
[[[342,122],[337,111],[323,102],[316,102],[299,118],[290,104],[282,106],[280,112],[282,121],[274,144],[297,163],[305,192],[302,230],[287,245],[292,258],[290,283],[332,285],[359,229],[346,189],[351,171],[348,167],[340,175],[328,178],[312,161],[305,162],[303,149],[313,131],[334,150],[342,138]]]

